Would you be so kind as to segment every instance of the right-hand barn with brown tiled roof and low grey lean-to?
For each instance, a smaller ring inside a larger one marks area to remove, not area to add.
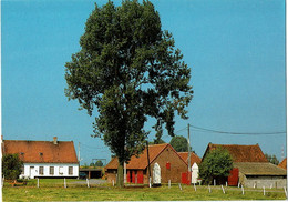
[[[265,158],[259,144],[238,145],[238,144],[213,144],[209,143],[204,155],[216,148],[226,149],[233,158],[234,169],[227,181],[229,185],[238,183],[247,188],[281,188],[287,183],[287,173]]]

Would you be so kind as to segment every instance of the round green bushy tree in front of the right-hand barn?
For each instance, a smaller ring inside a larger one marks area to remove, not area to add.
[[[199,178],[204,183],[224,183],[233,169],[233,160],[227,150],[216,148],[209,151],[199,164]]]

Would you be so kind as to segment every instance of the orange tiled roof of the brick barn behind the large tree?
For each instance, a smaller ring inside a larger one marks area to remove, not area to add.
[[[171,147],[173,151],[177,154],[177,152],[174,150],[172,145],[168,143],[164,144],[153,144],[148,147],[148,154],[150,154],[150,163],[153,163],[153,161],[167,148]],[[178,154],[177,154],[178,155]],[[178,155],[179,156],[179,155]],[[179,159],[182,159],[179,156]],[[183,159],[182,159],[183,160]],[[184,160],[183,160],[184,161]],[[184,161],[185,162],[185,161]],[[113,158],[109,164],[105,166],[105,169],[117,169],[119,160],[117,158]],[[130,160],[130,162],[126,164],[126,169],[133,169],[133,170],[145,170],[148,166],[148,160],[147,160],[147,148],[144,149],[143,153],[136,158],[136,155],[133,155]]]

